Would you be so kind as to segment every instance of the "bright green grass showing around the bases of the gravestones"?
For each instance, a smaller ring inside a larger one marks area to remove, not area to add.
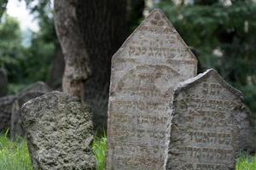
[[[95,137],[92,144],[96,156],[96,169],[104,170],[106,166],[107,138]],[[32,170],[32,163],[26,147],[25,139],[12,142],[7,133],[0,135],[0,170]],[[256,170],[256,156],[241,153],[236,160],[236,170]]]

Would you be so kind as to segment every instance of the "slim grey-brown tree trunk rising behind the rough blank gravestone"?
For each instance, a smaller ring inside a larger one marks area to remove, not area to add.
[[[76,14],[77,3],[77,0],[55,0],[55,30],[65,59],[63,91],[84,99],[84,82],[90,69]]]

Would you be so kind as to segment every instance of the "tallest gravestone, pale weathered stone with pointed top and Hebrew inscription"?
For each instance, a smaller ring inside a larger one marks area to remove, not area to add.
[[[107,169],[164,169],[172,89],[196,74],[197,60],[160,9],[113,55]]]

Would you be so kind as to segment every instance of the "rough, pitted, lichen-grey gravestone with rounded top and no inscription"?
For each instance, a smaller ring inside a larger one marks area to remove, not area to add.
[[[95,169],[91,108],[80,99],[50,92],[21,108],[34,169]]]

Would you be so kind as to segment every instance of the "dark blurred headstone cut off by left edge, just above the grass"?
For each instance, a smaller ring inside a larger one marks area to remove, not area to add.
[[[2,133],[10,127],[10,117],[12,114],[12,105],[14,101],[14,95],[0,98],[0,132]]]

